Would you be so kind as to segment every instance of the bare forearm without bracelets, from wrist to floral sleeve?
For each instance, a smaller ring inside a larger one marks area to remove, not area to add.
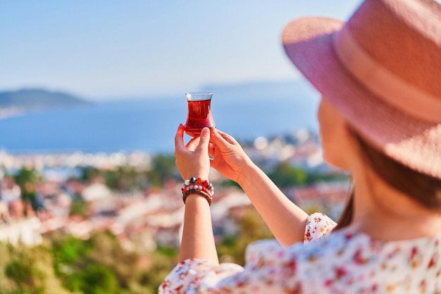
[[[292,203],[258,166],[247,164],[238,183],[280,244],[303,242],[308,214]]]

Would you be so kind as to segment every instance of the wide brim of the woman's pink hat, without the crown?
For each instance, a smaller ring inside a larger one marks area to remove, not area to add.
[[[287,56],[367,142],[411,169],[441,178],[441,123],[405,114],[357,81],[333,50],[342,25],[318,17],[292,21],[282,34]]]

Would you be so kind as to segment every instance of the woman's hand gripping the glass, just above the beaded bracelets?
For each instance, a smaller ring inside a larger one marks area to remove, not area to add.
[[[209,180],[210,130],[201,130],[200,137],[194,137],[187,145],[184,144],[184,125],[179,125],[175,135],[175,158],[176,166],[184,180],[191,177]]]

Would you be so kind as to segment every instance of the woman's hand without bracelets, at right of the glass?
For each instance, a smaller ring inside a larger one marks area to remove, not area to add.
[[[235,138],[216,128],[211,128],[209,154],[213,157],[211,167],[237,183],[244,168],[252,164]]]

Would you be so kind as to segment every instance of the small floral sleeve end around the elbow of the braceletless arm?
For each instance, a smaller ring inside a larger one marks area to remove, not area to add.
[[[320,212],[311,214],[306,221],[304,243],[309,243],[328,235],[335,226],[337,226],[337,223],[330,219],[329,216]]]

